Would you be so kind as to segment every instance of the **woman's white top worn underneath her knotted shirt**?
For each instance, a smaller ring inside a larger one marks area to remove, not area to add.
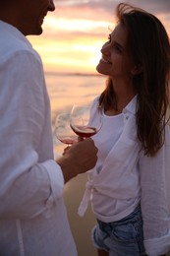
[[[114,116],[108,116],[105,115],[105,113],[103,112],[103,124],[101,130],[98,132],[98,134],[93,136],[93,140],[98,149],[98,160],[92,173],[88,174],[89,180],[90,178],[95,178],[95,175],[98,175],[99,172],[102,171],[105,160],[110,159],[107,158],[107,156],[109,155],[110,151],[113,148],[113,145],[117,143],[123,132],[125,118],[124,115],[124,113],[121,113]],[[135,166],[135,168],[136,170],[134,169],[134,172],[137,173],[138,177],[138,167]],[[114,168],[111,171],[114,171]],[[117,186],[119,186],[119,184],[123,182],[122,179],[122,176],[120,176],[120,178],[117,179]],[[110,182],[112,183],[114,182],[114,180],[111,179]],[[137,186],[140,186],[139,183],[137,183]],[[122,191],[122,193],[124,193],[124,191]],[[127,199],[121,199],[120,191],[120,198],[115,198],[113,196],[107,196],[107,194],[103,194],[102,191],[99,192],[95,188],[92,189],[90,201],[92,211],[95,217],[102,222],[108,223],[116,222],[127,216],[139,204],[139,195],[137,193],[137,198],[131,198],[131,196],[129,196],[128,194],[126,196]]]

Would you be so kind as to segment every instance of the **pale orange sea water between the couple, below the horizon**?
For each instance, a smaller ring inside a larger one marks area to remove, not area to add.
[[[47,90],[51,102],[51,122],[54,129],[56,116],[70,112],[73,104],[91,102],[105,88],[106,77],[100,75],[45,73]],[[64,145],[54,137],[56,156],[61,154]]]

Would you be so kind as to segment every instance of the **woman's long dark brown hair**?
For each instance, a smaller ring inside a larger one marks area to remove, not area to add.
[[[118,23],[128,31],[128,48],[142,72],[134,76],[138,95],[137,133],[144,154],[155,156],[164,142],[166,111],[169,104],[170,42],[161,22],[153,15],[128,4],[117,7]],[[99,103],[105,108],[114,106],[111,79]]]

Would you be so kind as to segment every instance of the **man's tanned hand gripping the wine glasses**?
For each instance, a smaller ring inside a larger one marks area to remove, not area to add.
[[[63,171],[65,182],[94,167],[97,149],[91,139],[73,144],[64,156],[57,160]]]

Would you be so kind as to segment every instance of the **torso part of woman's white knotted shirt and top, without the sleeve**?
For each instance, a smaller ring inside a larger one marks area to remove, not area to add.
[[[91,200],[96,219],[105,223],[121,220],[139,205],[139,144],[135,128],[130,128],[130,124],[132,127],[135,124],[136,100],[134,97],[123,113],[117,116],[103,113],[103,125],[98,134],[92,137],[98,148],[98,160],[88,172],[80,215],[85,213],[87,198]],[[96,110],[97,99],[93,104],[91,116],[97,118],[100,114]]]

